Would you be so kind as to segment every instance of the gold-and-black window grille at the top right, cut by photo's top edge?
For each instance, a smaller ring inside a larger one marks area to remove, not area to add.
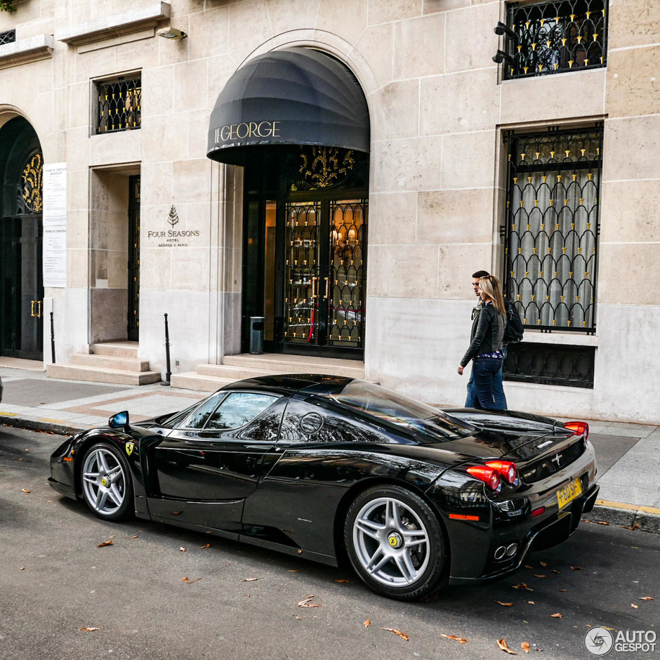
[[[504,79],[603,67],[607,0],[510,4],[504,35]]]

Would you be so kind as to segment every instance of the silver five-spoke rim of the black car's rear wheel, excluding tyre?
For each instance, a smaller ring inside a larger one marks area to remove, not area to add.
[[[389,587],[414,585],[429,562],[428,532],[420,517],[392,497],[371,500],[359,510],[353,547],[367,574]]]

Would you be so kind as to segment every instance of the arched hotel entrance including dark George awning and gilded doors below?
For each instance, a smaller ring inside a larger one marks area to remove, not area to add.
[[[285,48],[227,81],[209,158],[244,166],[242,351],[251,317],[265,350],[362,359],[369,112],[336,58]]]

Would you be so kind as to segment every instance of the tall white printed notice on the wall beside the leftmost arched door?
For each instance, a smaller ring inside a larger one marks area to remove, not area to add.
[[[67,164],[44,164],[44,286],[67,286]]]

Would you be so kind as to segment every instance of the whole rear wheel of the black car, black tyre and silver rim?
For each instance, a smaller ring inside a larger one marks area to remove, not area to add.
[[[344,542],[357,574],[374,591],[416,600],[442,586],[442,528],[421,497],[398,487],[374,487],[348,509]]]

